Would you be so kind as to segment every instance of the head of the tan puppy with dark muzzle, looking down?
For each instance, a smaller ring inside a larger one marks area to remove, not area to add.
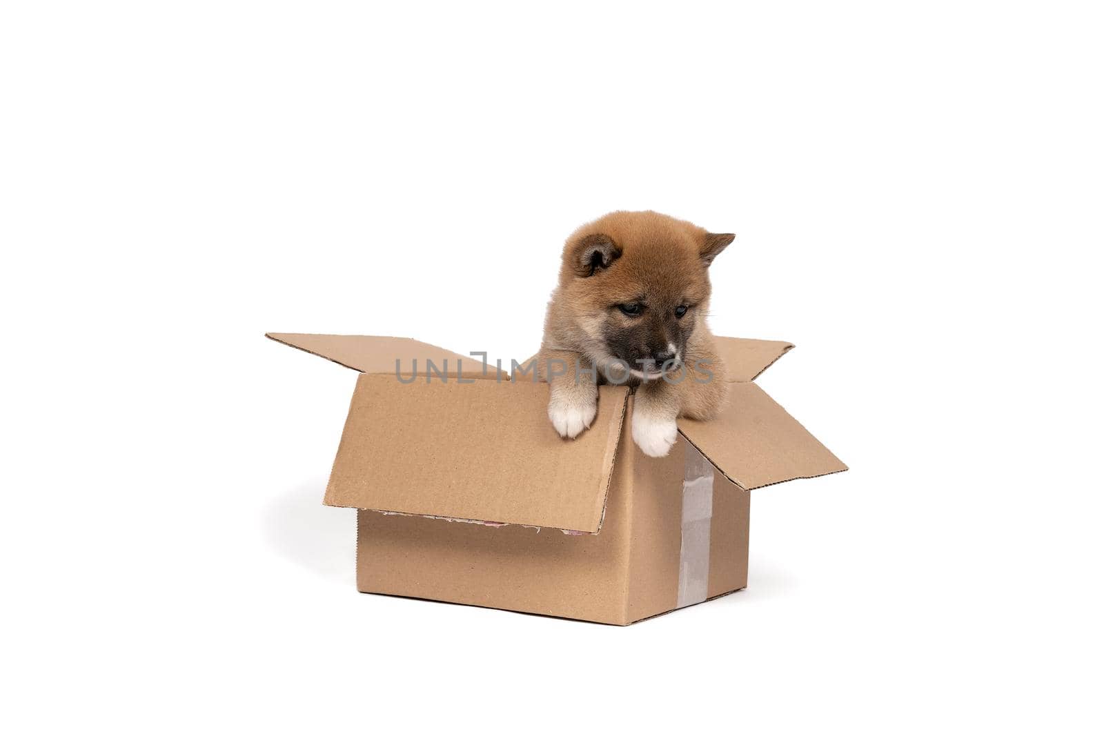
[[[638,378],[677,367],[709,307],[709,265],[735,236],[656,212],[614,212],[564,246],[564,316],[597,364],[620,360]]]

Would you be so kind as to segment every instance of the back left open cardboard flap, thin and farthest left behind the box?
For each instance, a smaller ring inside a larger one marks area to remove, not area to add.
[[[463,370],[467,377],[493,378],[497,372],[497,369],[491,365],[488,366],[485,374],[482,360],[479,356],[460,355],[450,350],[410,338],[289,332],[267,332],[265,337],[361,373],[396,375],[395,361],[399,361],[400,365],[399,375],[403,376],[411,376],[414,373],[426,375],[426,361],[432,361],[434,367],[445,375],[457,375]],[[414,370],[414,361],[417,361],[416,371]],[[436,377],[437,372],[434,371],[433,375]],[[502,377],[506,377],[505,372]]]

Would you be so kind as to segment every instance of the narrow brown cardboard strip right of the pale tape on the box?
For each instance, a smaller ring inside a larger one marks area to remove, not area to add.
[[[751,491],[713,478],[713,523],[709,536],[709,597],[747,587]]]

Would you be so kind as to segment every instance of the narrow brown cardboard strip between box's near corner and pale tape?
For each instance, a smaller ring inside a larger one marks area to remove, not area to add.
[[[630,422],[625,420],[626,431]],[[682,477],[684,437],[664,458],[649,458],[622,439],[619,457],[631,456],[629,493],[629,602],[630,621],[669,611],[678,605],[679,552],[682,544]]]

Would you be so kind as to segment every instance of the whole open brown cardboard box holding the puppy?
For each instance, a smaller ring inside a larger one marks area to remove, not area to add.
[[[786,342],[719,338],[726,409],[649,458],[624,386],[565,440],[532,374],[402,338],[267,337],[361,372],[325,503],[359,510],[364,593],[631,623],[745,587],[752,490],[847,470],[754,383]]]

